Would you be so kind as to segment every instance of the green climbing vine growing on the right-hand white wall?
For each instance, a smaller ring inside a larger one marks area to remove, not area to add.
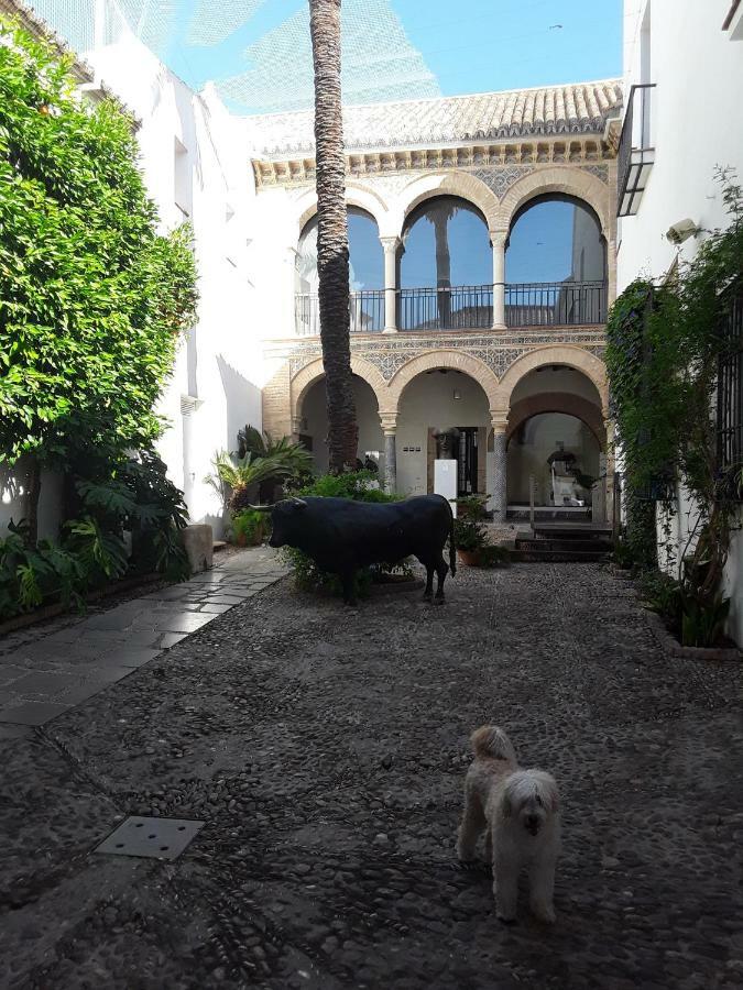
[[[743,286],[743,191],[729,170],[721,169],[718,178],[728,227],[707,232],[692,261],[681,262],[663,286],[646,280],[627,286],[607,327],[625,468],[627,544],[636,563],[652,565],[655,506],[659,503],[657,521],[669,538],[677,483],[682,482],[692,518],[687,544],[674,553],[678,625],[684,641],[693,645],[713,641],[726,612],[720,587],[743,476],[741,464],[719,465],[714,403],[720,360],[740,346],[723,328]]]

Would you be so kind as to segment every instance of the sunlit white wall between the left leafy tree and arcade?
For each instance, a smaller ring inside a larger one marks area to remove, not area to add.
[[[181,342],[159,406],[171,422],[160,449],[192,520],[211,522],[219,535],[221,506],[204,482],[211,458],[234,450],[247,422],[262,425],[248,134],[214,87],[193,92],[130,34],[86,58],[141,121],[141,166],[163,231],[184,219],[193,223],[198,322]]]

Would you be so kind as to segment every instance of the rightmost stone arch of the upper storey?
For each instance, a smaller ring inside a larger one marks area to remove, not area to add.
[[[500,202],[493,229],[509,231],[524,204],[548,193],[575,196],[587,202],[599,218],[602,234],[608,242],[611,240],[610,187],[584,168],[559,165],[537,168],[514,183]]]

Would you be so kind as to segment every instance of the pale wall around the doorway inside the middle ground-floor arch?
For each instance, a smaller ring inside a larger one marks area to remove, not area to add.
[[[460,398],[454,397],[455,391]],[[418,375],[405,388],[397,416],[397,491],[404,495],[427,492],[429,427],[490,428],[485,393],[476,381],[455,371]],[[479,450],[478,457],[484,459],[485,450]]]

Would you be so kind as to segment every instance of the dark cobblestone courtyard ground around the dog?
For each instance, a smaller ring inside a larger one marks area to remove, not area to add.
[[[448,592],[281,582],[0,743],[0,985],[743,986],[740,667],[667,659],[598,565]],[[454,859],[485,721],[561,788],[551,928]],[[206,824],[172,862],[91,854],[125,814]]]

